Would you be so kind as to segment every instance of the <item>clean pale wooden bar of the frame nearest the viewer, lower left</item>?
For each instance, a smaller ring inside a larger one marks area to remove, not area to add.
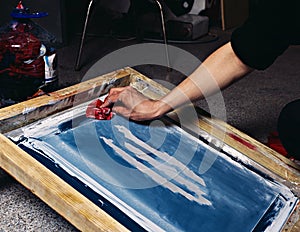
[[[127,231],[61,178],[0,134],[0,165],[81,231]]]

